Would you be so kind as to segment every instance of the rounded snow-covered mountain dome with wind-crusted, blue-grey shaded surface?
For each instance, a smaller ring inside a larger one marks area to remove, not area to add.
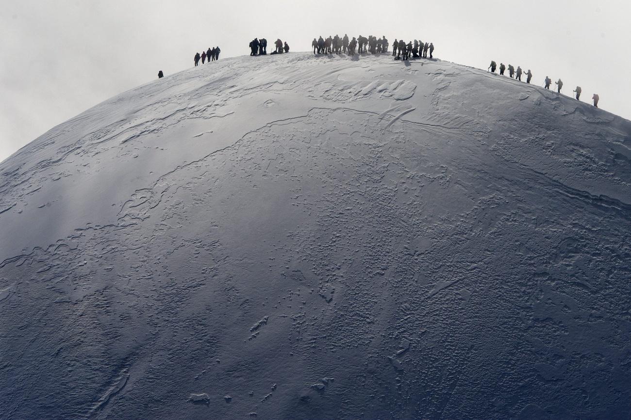
[[[630,147],[389,55],[121,94],[0,164],[0,417],[628,417]]]

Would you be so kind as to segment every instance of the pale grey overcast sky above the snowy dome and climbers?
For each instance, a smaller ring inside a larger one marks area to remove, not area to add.
[[[493,59],[577,85],[631,118],[628,0],[2,0],[0,161],[117,93],[191,67],[195,52],[249,54],[254,37],[307,51],[322,35],[433,42],[434,56]]]

